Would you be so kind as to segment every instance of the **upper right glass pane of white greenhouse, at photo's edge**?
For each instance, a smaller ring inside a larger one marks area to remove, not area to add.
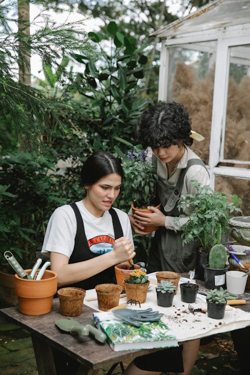
[[[230,47],[229,62],[224,158],[250,161],[250,44]]]

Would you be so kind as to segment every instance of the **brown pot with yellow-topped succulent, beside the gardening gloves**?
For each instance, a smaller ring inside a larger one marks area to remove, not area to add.
[[[135,269],[126,276],[124,282],[126,300],[135,300],[143,303],[146,300],[147,289],[149,285],[148,276],[140,269]]]

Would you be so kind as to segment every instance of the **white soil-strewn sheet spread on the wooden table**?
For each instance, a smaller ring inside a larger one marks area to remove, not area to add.
[[[94,289],[87,290],[86,296],[92,296]],[[84,298],[84,304],[98,309],[97,300],[88,301]],[[119,299],[119,304],[124,303],[124,298]],[[206,303],[195,302],[192,303],[194,308],[205,308]],[[209,336],[215,333],[227,332],[233,329],[244,328],[250,325],[250,313],[232,306],[231,310],[225,311],[223,319],[212,319],[207,317],[207,313],[195,312],[194,314],[188,311],[188,303],[180,300],[179,288],[176,295],[173,297],[173,305],[171,307],[160,307],[157,305],[155,286],[152,285],[147,291],[145,303],[139,305],[129,304],[128,308],[146,309],[151,307],[154,311],[163,313],[161,320],[176,334],[178,341],[187,341],[195,338]]]

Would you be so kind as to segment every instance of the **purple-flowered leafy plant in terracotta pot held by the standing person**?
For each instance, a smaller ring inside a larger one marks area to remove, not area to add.
[[[151,212],[147,209],[148,205],[160,207],[156,201],[155,187],[158,179],[156,166],[151,160],[146,159],[147,152],[141,145],[136,145],[128,151],[127,155],[122,157],[122,167],[124,170],[123,196],[124,199],[131,201],[133,212],[135,210],[142,212]],[[145,226],[145,232],[152,232],[158,227]]]

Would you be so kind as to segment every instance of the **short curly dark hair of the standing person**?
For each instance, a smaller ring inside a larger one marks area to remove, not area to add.
[[[182,104],[174,101],[149,107],[139,118],[136,130],[138,142],[143,148],[169,147],[183,143],[191,145],[191,119]]]

